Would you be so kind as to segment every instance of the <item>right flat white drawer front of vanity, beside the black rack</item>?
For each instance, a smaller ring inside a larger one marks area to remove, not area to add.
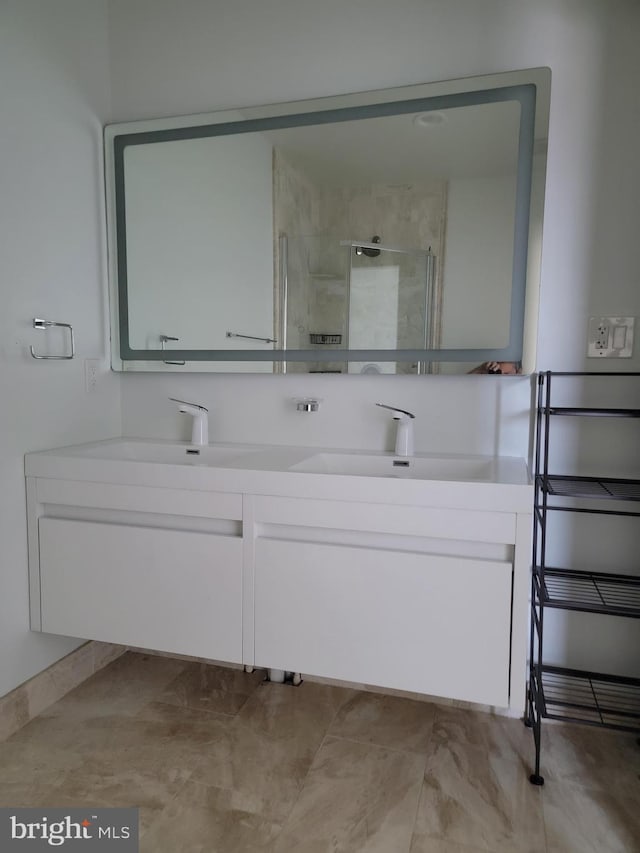
[[[510,562],[258,538],[257,666],[509,704]]]

